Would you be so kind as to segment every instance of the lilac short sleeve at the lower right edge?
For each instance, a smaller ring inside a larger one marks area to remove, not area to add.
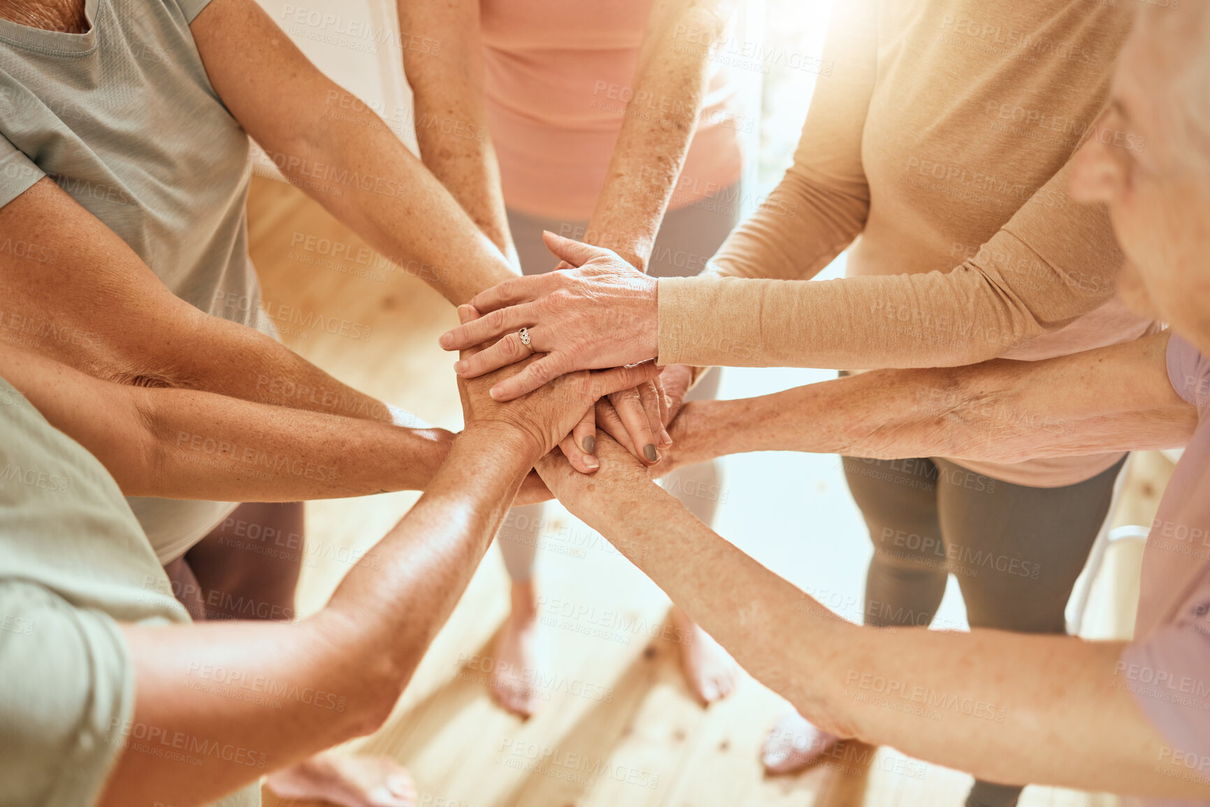
[[[1177,622],[1127,646],[1118,676],[1174,750],[1210,757],[1210,581]]]

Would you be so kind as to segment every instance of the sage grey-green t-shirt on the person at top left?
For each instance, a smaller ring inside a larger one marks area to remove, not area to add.
[[[87,0],[83,34],[0,19],[0,207],[48,177],[173,294],[258,325],[248,136],[211,86],[189,31],[208,2]],[[53,323],[4,302],[0,340],[38,347],[53,333]],[[163,563],[235,509],[200,500],[131,505]]]

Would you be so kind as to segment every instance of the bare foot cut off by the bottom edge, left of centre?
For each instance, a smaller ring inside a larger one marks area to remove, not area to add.
[[[327,801],[341,807],[415,807],[417,801],[411,777],[385,756],[323,751],[270,773],[266,784],[282,799]]]

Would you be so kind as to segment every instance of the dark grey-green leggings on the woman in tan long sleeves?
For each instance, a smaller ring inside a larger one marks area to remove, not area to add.
[[[970,627],[1065,633],[1067,599],[1124,462],[1074,485],[1026,488],[940,459],[845,457],[874,542],[865,623],[928,626],[952,573]],[[1020,792],[975,782],[967,807],[1012,807]]]

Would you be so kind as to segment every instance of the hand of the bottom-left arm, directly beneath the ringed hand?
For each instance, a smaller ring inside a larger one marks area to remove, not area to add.
[[[473,357],[478,351],[472,347],[462,356]],[[514,400],[496,400],[489,394],[492,385],[524,373],[537,361],[535,356],[476,379],[459,379],[466,428],[505,428],[523,438],[535,457],[541,456],[563,440],[599,398],[658,375],[655,362],[645,362],[601,371],[569,373]]]

